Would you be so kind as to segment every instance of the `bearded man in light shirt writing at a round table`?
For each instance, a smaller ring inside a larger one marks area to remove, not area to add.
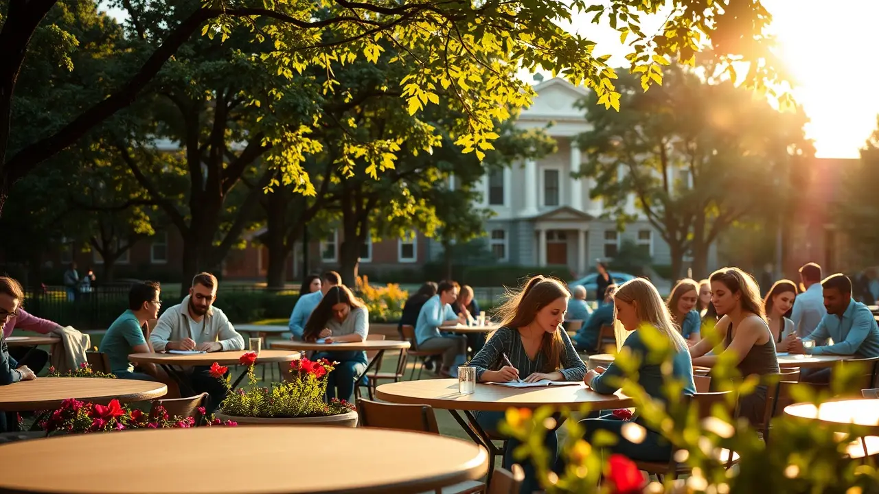
[[[230,352],[244,349],[244,338],[235,331],[229,317],[213,307],[217,279],[209,272],[193,278],[193,287],[179,305],[165,310],[149,335],[156,352],[169,350],[198,352]],[[210,375],[209,367],[193,367],[188,374],[189,386],[196,393],[207,391],[214,409],[226,396],[226,388]]]

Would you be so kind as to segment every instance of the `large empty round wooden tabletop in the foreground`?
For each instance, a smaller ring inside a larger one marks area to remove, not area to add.
[[[83,454],[94,451],[138,454],[116,454],[112,461]],[[199,452],[206,456],[193,469],[193,454]],[[35,475],[2,461],[0,490],[55,494],[415,493],[476,480],[488,466],[485,450],[467,441],[348,427],[76,434],[0,446],[0,457],[52,465]],[[162,475],[144,475],[144,458],[161,458]]]

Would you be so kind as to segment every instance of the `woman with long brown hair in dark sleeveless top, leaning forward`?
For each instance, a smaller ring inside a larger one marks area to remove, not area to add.
[[[757,282],[737,267],[719,269],[709,280],[711,303],[721,316],[715,331],[723,341],[724,350],[718,355],[707,355],[714,344],[710,338],[703,339],[690,347],[694,365],[714,367],[717,360],[730,353],[742,377],[780,374],[775,340],[766,323]],[[766,385],[759,385],[753,394],[741,397],[739,414],[752,424],[758,424],[762,421],[765,405]]]

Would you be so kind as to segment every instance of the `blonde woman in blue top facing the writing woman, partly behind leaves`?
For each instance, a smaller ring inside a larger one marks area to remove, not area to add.
[[[636,278],[623,283],[614,294],[614,306],[616,318],[626,328],[633,331],[623,348],[628,348],[633,356],[637,356],[641,364],[638,367],[638,384],[651,397],[665,402],[668,397],[663,392],[665,376],[661,370],[664,361],[656,354],[650,353],[650,348],[644,344],[642,331],[647,331],[645,326],[656,330],[663,337],[668,338],[672,349],[672,379],[677,379],[684,384],[684,394],[693,396],[696,385],[693,381],[693,364],[690,362],[690,354],[687,352],[686,340],[678,332],[678,328],[672,323],[672,316],[668,308],[659,296],[656,287],[648,280]],[[621,383],[626,374],[611,363],[607,370],[596,367],[589,371],[585,377],[585,383],[594,391],[611,395],[621,388]],[[672,455],[672,445],[662,437],[658,431],[650,429],[647,425],[636,418],[636,422],[647,429],[644,440],[640,443],[632,443],[621,435],[622,425],[625,422],[607,416],[601,418],[587,418],[580,422],[585,426],[586,439],[599,430],[614,432],[619,441],[610,447],[614,453],[625,454],[633,460],[640,461],[668,461]]]

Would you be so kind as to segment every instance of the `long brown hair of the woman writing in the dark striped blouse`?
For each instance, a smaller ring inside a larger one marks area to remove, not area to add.
[[[538,274],[528,280],[521,290],[508,288],[505,293],[506,300],[495,314],[500,317],[501,326],[518,330],[534,322],[534,316],[537,316],[541,309],[559,298],[570,299],[570,292],[564,283]],[[562,331],[556,328],[552,333],[544,332],[542,337],[541,352],[546,357],[547,367],[551,367],[549,372],[557,370],[561,365],[564,352]]]

